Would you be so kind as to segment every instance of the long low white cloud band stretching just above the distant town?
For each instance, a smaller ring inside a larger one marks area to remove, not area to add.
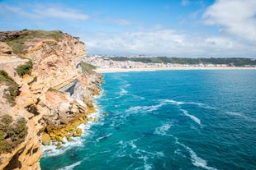
[[[81,39],[88,53],[148,54],[168,57],[255,57],[256,48],[233,39],[179,34],[175,30],[90,33]]]

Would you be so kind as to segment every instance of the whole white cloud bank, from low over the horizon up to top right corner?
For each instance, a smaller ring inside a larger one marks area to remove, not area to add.
[[[187,6],[189,1],[182,1]],[[168,57],[256,57],[256,1],[216,1],[202,12],[205,25],[219,34],[188,34],[163,29],[92,33],[82,39],[89,53],[148,54]]]

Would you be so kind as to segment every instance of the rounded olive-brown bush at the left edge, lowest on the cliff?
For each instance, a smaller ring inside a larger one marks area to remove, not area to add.
[[[10,115],[0,117],[0,154],[11,153],[26,138],[27,127],[25,118],[14,121]]]

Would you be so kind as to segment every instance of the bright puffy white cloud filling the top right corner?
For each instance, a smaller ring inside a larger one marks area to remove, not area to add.
[[[203,15],[206,25],[219,25],[221,34],[256,42],[256,1],[219,0]]]

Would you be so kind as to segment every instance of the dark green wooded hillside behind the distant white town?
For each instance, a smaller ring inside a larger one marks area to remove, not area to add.
[[[225,64],[235,67],[254,66],[256,60],[243,57],[218,58],[188,58],[188,57],[111,57],[114,61],[133,61],[145,63],[174,63],[174,64]]]

